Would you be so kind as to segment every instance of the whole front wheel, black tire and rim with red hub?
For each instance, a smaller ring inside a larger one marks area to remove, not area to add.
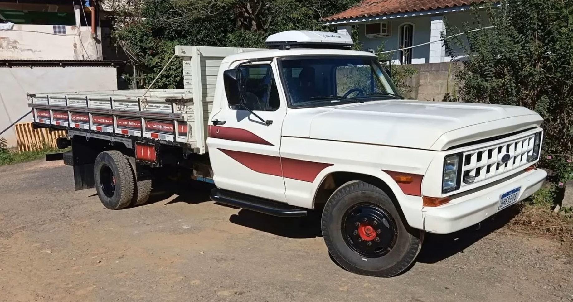
[[[384,191],[366,182],[339,187],[324,206],[321,227],[332,257],[352,273],[392,277],[418,255],[423,231],[406,226]]]

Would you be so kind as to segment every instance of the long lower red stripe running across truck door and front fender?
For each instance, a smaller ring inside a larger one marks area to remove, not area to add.
[[[322,170],[332,166],[330,163],[309,162],[308,160],[280,158],[278,156],[227,149],[219,150],[226,155],[229,155],[230,158],[237,160],[237,162],[250,170],[263,174],[296,179],[297,181],[303,182],[315,181],[316,176],[319,175]]]

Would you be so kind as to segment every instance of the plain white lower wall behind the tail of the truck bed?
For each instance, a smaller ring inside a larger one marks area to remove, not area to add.
[[[117,89],[112,67],[0,67],[0,131],[28,112],[26,92],[97,91]],[[32,115],[21,122],[32,121]],[[0,137],[15,146],[14,127]]]

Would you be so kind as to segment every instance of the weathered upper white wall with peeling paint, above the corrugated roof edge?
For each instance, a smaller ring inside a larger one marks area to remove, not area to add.
[[[102,60],[101,41],[92,38],[90,27],[65,28],[65,35],[54,34],[52,25],[15,24],[0,30],[0,60]]]

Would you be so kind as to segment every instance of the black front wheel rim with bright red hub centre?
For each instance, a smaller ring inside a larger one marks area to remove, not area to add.
[[[382,257],[394,247],[398,228],[394,219],[374,203],[359,203],[342,217],[342,236],[349,248],[367,258]]]

